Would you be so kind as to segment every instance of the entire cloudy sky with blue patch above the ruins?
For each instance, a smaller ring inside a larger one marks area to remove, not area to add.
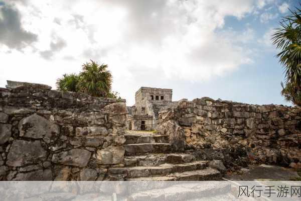
[[[140,86],[290,105],[271,35],[293,0],[0,0],[0,87],[48,84],[90,59],[127,105]]]

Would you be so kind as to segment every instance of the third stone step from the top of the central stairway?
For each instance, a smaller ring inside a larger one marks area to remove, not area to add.
[[[195,160],[192,154],[172,153],[172,154],[147,154],[139,156],[126,156],[125,166],[159,166],[164,163],[187,163]]]

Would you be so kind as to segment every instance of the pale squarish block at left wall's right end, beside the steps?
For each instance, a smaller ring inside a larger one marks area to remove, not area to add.
[[[123,146],[109,146],[97,151],[96,162],[98,164],[118,164],[123,161]]]

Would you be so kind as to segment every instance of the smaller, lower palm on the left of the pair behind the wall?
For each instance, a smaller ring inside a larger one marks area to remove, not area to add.
[[[56,85],[60,91],[78,91],[79,77],[75,73],[64,74],[62,78],[58,78]]]

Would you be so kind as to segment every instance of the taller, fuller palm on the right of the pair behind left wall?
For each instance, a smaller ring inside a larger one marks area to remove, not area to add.
[[[91,96],[107,97],[111,91],[112,74],[107,65],[90,61],[82,65],[78,88]]]

